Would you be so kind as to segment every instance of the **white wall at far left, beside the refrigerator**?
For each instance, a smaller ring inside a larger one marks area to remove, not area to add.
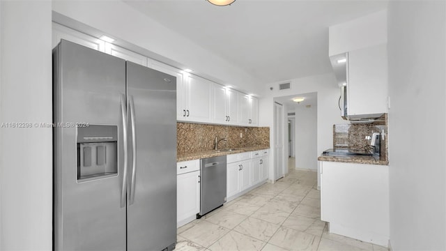
[[[51,2],[0,6],[0,121],[49,123]],[[52,129],[1,128],[0,137],[0,250],[51,250]]]

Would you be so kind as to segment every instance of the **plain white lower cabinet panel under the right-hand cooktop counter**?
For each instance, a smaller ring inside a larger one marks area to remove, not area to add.
[[[389,167],[320,162],[321,220],[330,233],[387,246]]]

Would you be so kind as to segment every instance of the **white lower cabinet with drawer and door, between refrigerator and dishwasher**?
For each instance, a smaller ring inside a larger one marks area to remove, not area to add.
[[[200,170],[199,160],[178,162],[178,168],[195,169],[176,176],[176,223],[177,227],[191,222],[200,212]],[[187,165],[189,164],[189,165]],[[191,165],[194,164],[194,165]],[[198,170],[197,170],[198,167]],[[183,171],[183,169],[180,169]]]

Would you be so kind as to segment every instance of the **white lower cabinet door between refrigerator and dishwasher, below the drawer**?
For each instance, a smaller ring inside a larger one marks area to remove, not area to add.
[[[176,176],[176,221],[184,220],[200,211],[200,172]]]

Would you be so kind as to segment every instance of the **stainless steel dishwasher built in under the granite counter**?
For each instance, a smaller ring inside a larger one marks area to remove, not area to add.
[[[197,219],[226,202],[226,155],[200,161],[200,213]]]

